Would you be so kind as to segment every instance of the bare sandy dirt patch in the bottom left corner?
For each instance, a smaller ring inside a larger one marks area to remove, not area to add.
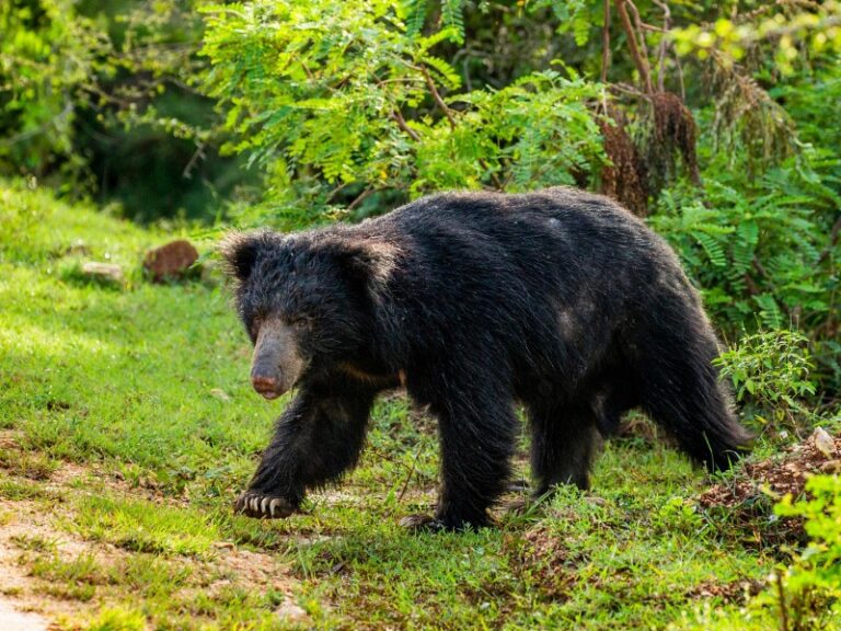
[[[8,437],[4,446],[15,448]],[[8,460],[20,463],[21,458]],[[77,621],[89,618],[101,608],[125,601],[130,585],[120,584],[110,577],[108,572],[129,566],[137,553],[110,542],[83,538],[61,527],[62,521],[72,523],[76,517],[70,498],[96,489],[95,493],[104,491],[113,496],[142,497],[152,506],[172,506],[174,503],[154,493],[129,490],[125,482],[68,462],[51,471],[46,480],[34,481],[16,475],[19,472],[0,466],[0,482],[10,484],[11,489],[37,493],[32,495],[33,498],[0,498],[0,631],[44,631],[64,629],[68,624],[76,628]],[[82,489],[79,487],[81,480],[85,481]],[[55,559],[56,567],[50,559]],[[95,584],[95,590],[91,588],[91,593],[82,597],[76,596],[73,588],[85,587],[85,578],[56,578],[55,574],[58,572],[60,576],[62,564],[79,559],[90,559],[99,567],[95,572],[100,573],[93,580],[87,580],[90,585]],[[290,621],[306,619],[306,612],[295,605],[296,580],[270,553],[220,540],[201,559],[178,555],[148,555],[148,559],[160,561],[162,566],[176,573],[178,567],[189,566],[189,581],[180,583],[176,588],[180,594],[172,595],[174,609],[177,609],[177,599],[192,600],[193,594],[201,594],[209,600],[218,596],[223,601],[227,593],[272,592],[281,596],[284,603],[275,611],[276,616]],[[214,606],[212,603],[209,606]],[[208,611],[206,616],[210,619],[212,613]]]

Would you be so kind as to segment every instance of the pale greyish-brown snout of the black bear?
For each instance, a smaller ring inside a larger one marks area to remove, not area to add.
[[[254,390],[266,399],[277,399],[295,386],[302,369],[292,330],[277,320],[262,324],[251,367]]]

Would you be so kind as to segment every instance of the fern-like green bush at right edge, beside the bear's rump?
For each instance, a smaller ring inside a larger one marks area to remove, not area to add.
[[[796,328],[811,345],[813,378],[837,394],[841,243],[832,220],[841,196],[794,160],[753,182],[722,169],[704,190],[665,191],[652,226],[678,251],[727,339]]]

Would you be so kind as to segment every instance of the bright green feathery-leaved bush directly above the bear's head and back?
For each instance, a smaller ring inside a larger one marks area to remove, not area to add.
[[[588,107],[600,85],[546,69],[466,90],[436,54],[462,41],[456,13],[423,35],[412,9],[392,0],[205,9],[208,90],[238,138],[228,149],[267,168],[287,225],[335,205],[365,214],[378,202],[382,211],[383,200],[441,188],[573,183],[600,163]]]

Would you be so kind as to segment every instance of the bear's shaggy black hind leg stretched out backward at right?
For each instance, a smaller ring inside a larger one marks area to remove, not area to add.
[[[736,420],[713,359],[718,345],[700,307],[657,313],[659,326],[638,341],[643,409],[680,448],[710,471],[727,469],[749,450],[751,434]]]

